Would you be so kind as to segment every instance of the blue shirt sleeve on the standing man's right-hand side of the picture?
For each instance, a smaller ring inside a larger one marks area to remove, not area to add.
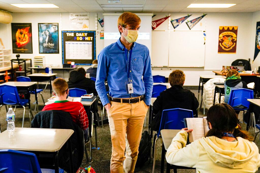
[[[146,58],[145,58],[145,64],[144,64],[144,72],[143,72],[143,81],[145,85],[145,104],[150,105],[151,104],[151,97],[152,97],[152,91],[153,91],[153,75],[152,75],[152,68],[151,68],[151,58],[149,54],[149,50],[146,47]]]

